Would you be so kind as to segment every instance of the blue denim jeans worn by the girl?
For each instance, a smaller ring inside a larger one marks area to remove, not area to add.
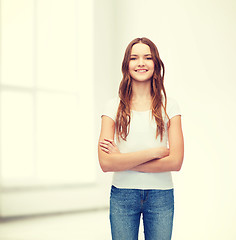
[[[137,240],[141,214],[145,240],[170,240],[174,190],[111,187],[110,223],[113,240]]]

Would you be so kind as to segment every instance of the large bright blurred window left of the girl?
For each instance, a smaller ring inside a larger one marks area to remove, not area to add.
[[[95,181],[91,4],[1,1],[3,187]]]

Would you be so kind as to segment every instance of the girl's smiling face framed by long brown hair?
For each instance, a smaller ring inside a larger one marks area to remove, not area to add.
[[[148,81],[154,72],[150,47],[143,43],[136,43],[131,49],[129,73],[135,81]]]

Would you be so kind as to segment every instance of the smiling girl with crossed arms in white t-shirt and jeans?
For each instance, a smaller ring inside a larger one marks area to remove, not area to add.
[[[166,96],[164,64],[155,44],[136,38],[126,48],[119,97],[102,113],[98,157],[114,172],[110,194],[113,240],[137,240],[140,216],[146,240],[172,235],[174,191],[171,171],[184,157],[181,112]]]

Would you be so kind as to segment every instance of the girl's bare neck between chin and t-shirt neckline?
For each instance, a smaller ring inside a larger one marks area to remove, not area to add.
[[[132,100],[151,99],[151,80],[145,82],[132,81]]]

